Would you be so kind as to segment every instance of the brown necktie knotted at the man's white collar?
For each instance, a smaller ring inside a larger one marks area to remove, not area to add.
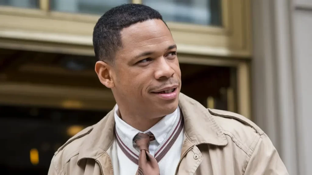
[[[159,175],[157,160],[149,153],[149,142],[155,137],[144,133],[137,134],[133,141],[140,149],[139,168],[136,175]]]

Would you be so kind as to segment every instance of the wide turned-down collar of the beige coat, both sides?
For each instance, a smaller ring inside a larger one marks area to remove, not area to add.
[[[195,145],[202,143],[217,146],[227,145],[221,128],[204,106],[180,93],[179,107],[183,113],[185,134],[191,142]],[[114,111],[115,107],[95,124],[93,130],[86,136],[80,147],[78,163],[83,158],[96,159],[110,148],[114,139]]]

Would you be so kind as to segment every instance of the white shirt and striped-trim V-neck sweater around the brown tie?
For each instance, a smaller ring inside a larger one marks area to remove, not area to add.
[[[158,160],[160,175],[175,173],[182,150],[183,123],[183,116],[178,107],[172,114],[166,115],[152,128],[143,132],[151,132],[155,136],[155,140],[149,144],[149,153]],[[133,128],[118,116],[118,106],[116,105],[116,143],[114,145],[117,147],[118,173],[120,175],[135,174],[138,169],[137,155],[139,154],[139,149],[133,142],[134,136],[138,133],[142,132]],[[174,135],[177,136],[176,140],[173,139]],[[168,152],[165,151],[166,147],[169,148]],[[155,153],[157,154],[156,156]],[[114,170],[114,174],[118,173]]]

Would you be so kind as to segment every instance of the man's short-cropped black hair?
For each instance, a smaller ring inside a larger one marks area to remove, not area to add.
[[[115,53],[122,46],[121,30],[151,19],[163,21],[158,11],[142,4],[123,4],[105,12],[93,30],[95,57],[100,61],[114,63]]]

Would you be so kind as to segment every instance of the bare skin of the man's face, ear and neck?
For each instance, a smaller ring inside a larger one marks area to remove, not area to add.
[[[178,107],[181,70],[176,45],[163,21],[139,22],[121,31],[122,48],[115,64],[98,61],[100,82],[113,92],[119,117],[144,132]],[[177,97],[165,100],[154,92],[178,85]]]

